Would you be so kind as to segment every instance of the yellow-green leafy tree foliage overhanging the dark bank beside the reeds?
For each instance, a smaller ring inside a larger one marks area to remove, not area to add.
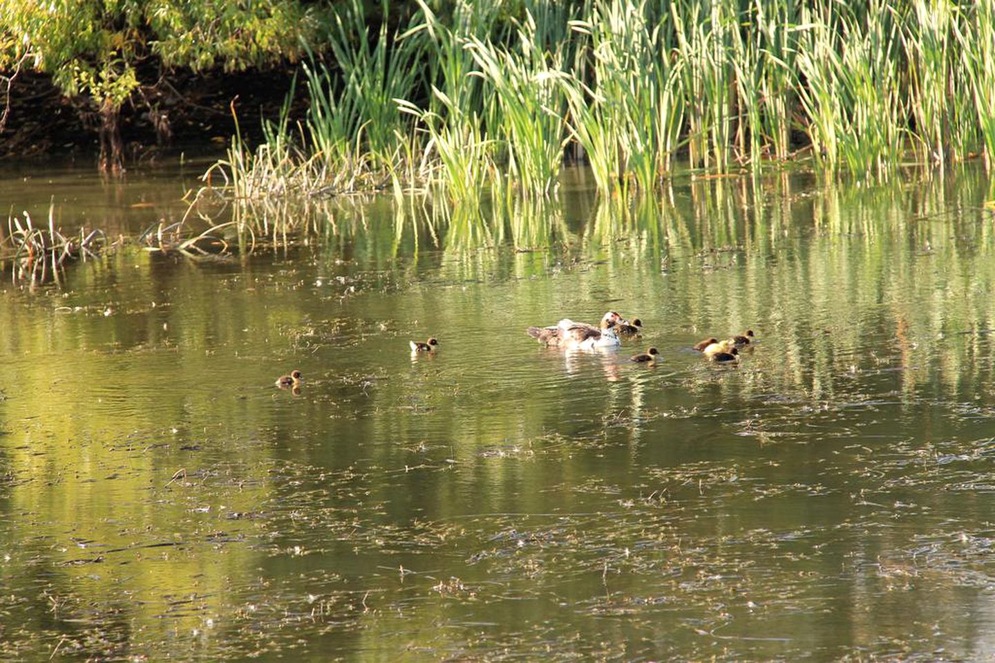
[[[0,0],[0,71],[50,74],[67,95],[91,98],[103,130],[116,131],[121,105],[143,85],[142,65],[235,71],[294,61],[323,11],[305,0]],[[114,168],[119,154],[101,161]]]

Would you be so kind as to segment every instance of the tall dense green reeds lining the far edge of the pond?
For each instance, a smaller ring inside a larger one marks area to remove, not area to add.
[[[569,158],[613,194],[682,159],[880,181],[995,156],[995,0],[454,0],[377,17],[342,7],[301,70],[306,117],[288,107],[253,148],[236,135],[212,186],[467,201],[548,196]]]

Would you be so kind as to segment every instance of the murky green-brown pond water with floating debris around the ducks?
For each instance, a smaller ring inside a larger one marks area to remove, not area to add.
[[[156,186],[122,229],[182,213]],[[991,658],[988,197],[571,181],[486,231],[344,201],[287,249],[5,273],[0,658]],[[607,310],[643,337],[524,333]]]

